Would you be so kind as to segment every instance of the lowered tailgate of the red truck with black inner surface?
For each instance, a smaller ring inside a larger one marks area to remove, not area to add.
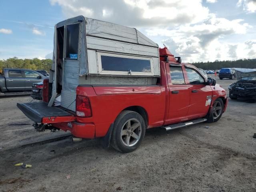
[[[34,102],[34,103],[17,103],[17,107],[32,121],[41,123],[43,122],[43,118],[49,118],[52,120],[52,123],[56,123],[54,121],[54,117],[64,117],[68,116],[68,121],[75,120],[75,117],[58,107],[48,107],[45,102]],[[71,117],[71,118],[70,118]],[[54,122],[53,122],[54,121]],[[45,121],[44,121],[45,122]],[[63,122],[63,118],[62,118]],[[46,122],[45,122],[46,123]]]

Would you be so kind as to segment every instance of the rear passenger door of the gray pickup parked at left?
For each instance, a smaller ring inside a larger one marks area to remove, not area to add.
[[[6,88],[10,92],[25,91],[25,78],[22,76],[22,70],[8,70]]]

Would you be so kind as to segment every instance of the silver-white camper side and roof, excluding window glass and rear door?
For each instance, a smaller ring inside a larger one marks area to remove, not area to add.
[[[56,27],[80,22],[80,45],[78,51],[80,75],[104,76],[160,76],[158,44],[144,36],[136,28],[130,28],[77,16],[59,22]],[[102,69],[102,56],[149,60],[150,70],[107,71]]]

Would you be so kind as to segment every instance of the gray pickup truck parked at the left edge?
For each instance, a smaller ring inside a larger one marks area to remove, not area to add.
[[[0,75],[0,93],[14,94],[31,92],[32,84],[48,78],[34,70],[4,69]]]

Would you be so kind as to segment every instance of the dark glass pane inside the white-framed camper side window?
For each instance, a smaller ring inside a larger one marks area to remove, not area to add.
[[[151,72],[150,60],[101,56],[104,71]]]

